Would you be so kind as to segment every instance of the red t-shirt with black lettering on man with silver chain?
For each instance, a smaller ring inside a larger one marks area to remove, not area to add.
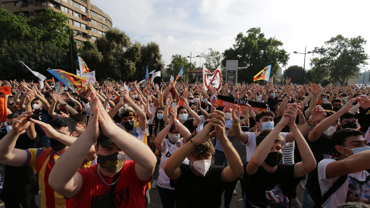
[[[98,175],[97,164],[87,169],[79,169],[82,177],[82,187],[73,197],[74,205],[78,208],[90,208],[109,191],[110,186],[106,185]],[[100,173],[101,174],[101,173]],[[101,176],[111,184],[114,176]],[[126,161],[118,177],[114,189],[115,207],[145,207],[145,186],[148,181],[140,180],[135,172],[135,162]]]

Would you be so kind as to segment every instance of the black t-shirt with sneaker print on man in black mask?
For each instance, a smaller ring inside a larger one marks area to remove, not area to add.
[[[244,164],[244,170],[247,164],[248,162]],[[286,164],[277,165],[273,173],[266,171],[262,166],[253,175],[248,175],[244,171],[243,178],[246,207],[252,207],[250,204],[255,207],[291,207],[292,187],[300,181],[300,178],[294,178],[294,165]],[[276,198],[280,199],[280,202],[273,201]]]

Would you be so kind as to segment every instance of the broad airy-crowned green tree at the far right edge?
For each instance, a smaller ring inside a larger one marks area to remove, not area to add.
[[[358,74],[367,64],[367,54],[363,48],[366,40],[361,36],[345,38],[342,35],[330,38],[321,47],[312,51],[316,57],[311,59],[311,74],[314,79],[330,77],[330,82],[345,83],[347,77]],[[354,60],[354,63],[353,63]]]

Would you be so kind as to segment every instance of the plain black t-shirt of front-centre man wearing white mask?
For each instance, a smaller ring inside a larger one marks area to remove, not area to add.
[[[226,182],[221,178],[224,167],[211,165],[205,177],[196,176],[190,165],[181,164],[181,176],[170,181],[175,188],[176,208],[217,208],[221,207],[221,195]]]

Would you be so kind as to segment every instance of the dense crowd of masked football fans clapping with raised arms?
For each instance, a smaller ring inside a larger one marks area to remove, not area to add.
[[[7,208],[38,207],[39,190],[42,208],[150,207],[149,189],[164,208],[228,208],[238,181],[244,207],[370,204],[370,87],[290,79],[218,90],[163,80],[95,82],[78,92],[54,82],[0,85]],[[266,110],[222,107],[213,95]]]

